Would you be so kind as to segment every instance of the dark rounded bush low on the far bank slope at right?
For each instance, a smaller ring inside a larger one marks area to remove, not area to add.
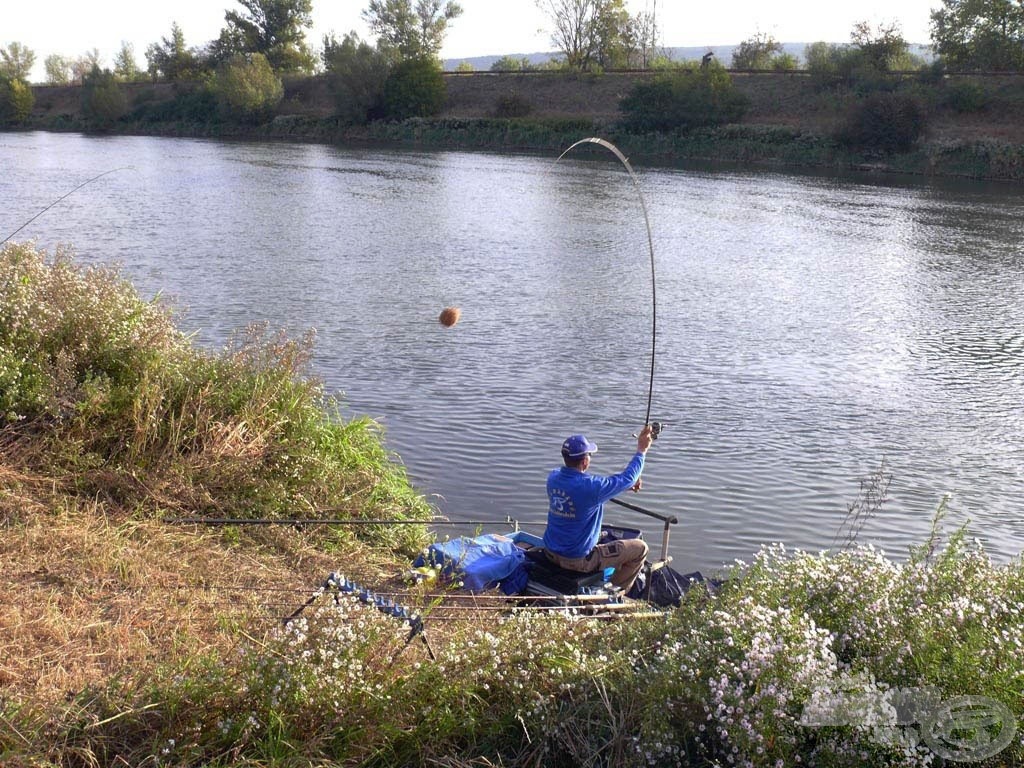
[[[874,93],[851,108],[837,138],[847,146],[908,152],[925,132],[924,109],[904,93]]]

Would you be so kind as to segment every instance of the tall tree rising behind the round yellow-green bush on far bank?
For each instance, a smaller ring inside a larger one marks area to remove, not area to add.
[[[311,73],[315,57],[306,44],[312,27],[312,0],[238,0],[244,11],[224,13],[227,27],[220,54],[259,53],[274,72]],[[233,49],[233,50],[232,50]]]

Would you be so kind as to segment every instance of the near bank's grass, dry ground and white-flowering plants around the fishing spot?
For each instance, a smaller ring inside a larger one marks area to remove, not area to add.
[[[0,275],[4,765],[1024,761],[1024,565],[941,515],[899,560],[765,546],[630,622],[428,604],[432,653],[356,600],[282,625],[329,570],[396,579],[426,528],[164,520],[430,514],[309,377],[310,341],[199,349],[116,270],[31,245]],[[1001,719],[935,717],[963,696]]]

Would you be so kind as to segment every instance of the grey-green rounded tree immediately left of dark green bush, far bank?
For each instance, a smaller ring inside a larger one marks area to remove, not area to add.
[[[324,66],[338,117],[361,125],[383,114],[387,55],[351,32],[340,43],[324,39]]]

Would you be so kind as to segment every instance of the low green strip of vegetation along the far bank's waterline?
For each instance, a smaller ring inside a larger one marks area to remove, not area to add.
[[[626,133],[580,119],[435,118],[344,126],[333,118],[279,116],[256,126],[226,123],[126,124],[90,130],[81,121],[46,121],[0,132],[45,131],[86,136],[162,136],[244,141],[298,141],[345,146],[504,153],[561,152],[600,135],[639,165],[699,163],[749,170],[909,175],[921,178],[1024,182],[1024,144],[998,139],[931,140],[902,155],[855,153],[828,136],[778,125],[737,124],[688,133]]]

